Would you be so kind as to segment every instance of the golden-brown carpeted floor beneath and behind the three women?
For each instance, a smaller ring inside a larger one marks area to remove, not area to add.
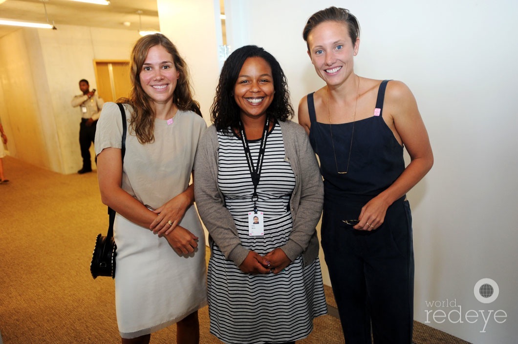
[[[0,185],[0,344],[117,343],[113,280],[90,275],[95,236],[108,227],[97,175],[62,175],[5,157],[8,184]],[[330,288],[328,303],[334,306]],[[330,312],[332,313],[332,312]],[[209,334],[207,307],[199,312],[202,343]],[[175,341],[176,327],[152,335]],[[414,322],[416,344],[469,344]],[[314,321],[299,344],[344,343],[331,315]]]

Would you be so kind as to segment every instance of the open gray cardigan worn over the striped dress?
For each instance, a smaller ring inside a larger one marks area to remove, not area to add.
[[[322,176],[304,128],[291,121],[278,123],[282,130],[285,160],[290,162],[295,174],[295,189],[290,199],[293,228],[289,240],[280,248],[291,261],[302,254],[307,265],[319,253],[315,227],[324,202]],[[196,152],[194,197],[199,215],[210,234],[210,246],[214,242],[218,244],[225,257],[239,266],[250,250],[241,245],[234,219],[218,188],[218,151],[218,135],[212,125],[205,131]]]

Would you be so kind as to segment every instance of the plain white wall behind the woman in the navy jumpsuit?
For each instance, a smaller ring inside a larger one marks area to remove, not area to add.
[[[286,72],[295,105],[323,85],[302,39],[306,20],[332,5],[355,14],[362,27],[356,73],[409,85],[435,154],[433,169],[408,195],[416,262],[414,318],[474,343],[515,343],[518,3],[227,3],[227,21],[240,23],[229,35],[232,48],[256,44],[274,54]],[[232,8],[238,9],[237,16]],[[499,286],[499,296],[491,304],[474,297],[473,287],[481,278],[492,278]],[[447,299],[451,307],[426,305]],[[466,321],[469,310],[473,312],[468,315],[478,313],[479,318],[468,318],[474,323]],[[497,318],[505,322],[495,321],[497,310],[507,313],[507,318]],[[442,311],[445,318],[439,317]],[[493,311],[485,328],[481,311],[486,319]]]

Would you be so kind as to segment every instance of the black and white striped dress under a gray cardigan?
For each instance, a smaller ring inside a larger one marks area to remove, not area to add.
[[[289,211],[295,176],[285,161],[281,128],[270,131],[257,187],[258,211],[264,212],[264,236],[250,236],[253,184],[241,140],[218,133],[218,186],[236,223],[244,248],[260,255],[284,245],[292,229]],[[249,141],[254,166],[261,140]],[[210,332],[225,343],[260,344],[305,338],[312,320],[326,313],[318,258],[304,267],[299,256],[281,273],[245,274],[214,244],[208,268]]]

